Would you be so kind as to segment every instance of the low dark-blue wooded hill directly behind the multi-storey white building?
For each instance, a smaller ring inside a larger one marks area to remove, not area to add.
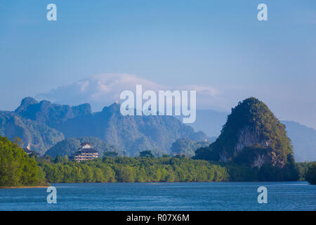
[[[57,155],[60,156],[71,156],[72,153],[76,152],[81,147],[81,143],[88,142],[92,143],[93,149],[97,150],[99,155],[102,156],[104,152],[115,152],[118,155],[125,155],[124,152],[116,148],[115,146],[108,145],[105,141],[98,139],[93,136],[81,137],[81,138],[70,138],[62,140],[55,144],[55,146],[49,148],[45,155],[51,155],[55,158]]]

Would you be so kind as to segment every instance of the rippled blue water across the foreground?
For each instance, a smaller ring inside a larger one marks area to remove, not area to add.
[[[52,184],[46,188],[0,189],[0,210],[316,210],[316,186],[297,182]],[[268,188],[258,204],[257,188]]]

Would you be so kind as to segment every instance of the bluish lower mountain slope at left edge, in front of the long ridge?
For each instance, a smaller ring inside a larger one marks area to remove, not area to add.
[[[65,139],[60,131],[56,131],[46,124],[27,120],[16,113],[4,111],[0,111],[0,136],[6,136],[10,140],[19,137],[23,148],[30,144],[32,150],[40,154],[44,154],[46,149]]]

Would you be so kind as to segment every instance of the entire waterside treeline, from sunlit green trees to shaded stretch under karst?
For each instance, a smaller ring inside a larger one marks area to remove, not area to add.
[[[242,165],[172,158],[104,157],[86,162],[68,161],[58,156],[39,160],[39,165],[52,183],[74,182],[174,182],[174,181],[296,181],[305,180],[312,163],[288,162],[284,168],[263,165],[259,170]],[[312,173],[310,173],[312,174]],[[311,177],[311,175],[310,175]]]

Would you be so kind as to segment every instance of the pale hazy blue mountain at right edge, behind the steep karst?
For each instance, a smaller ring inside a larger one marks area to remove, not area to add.
[[[282,121],[294,146],[294,157],[298,162],[316,161],[316,130],[298,122]]]

